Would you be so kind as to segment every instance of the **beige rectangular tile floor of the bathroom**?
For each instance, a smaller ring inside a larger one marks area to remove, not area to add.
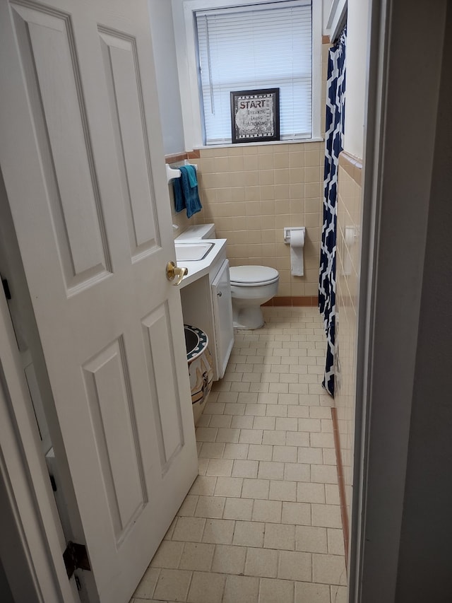
[[[316,308],[237,332],[196,429],[199,475],[133,603],[345,603],[331,399]]]

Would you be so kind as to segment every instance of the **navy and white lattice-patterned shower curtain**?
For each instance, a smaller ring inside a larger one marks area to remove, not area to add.
[[[345,119],[345,42],[347,28],[329,51],[326,94],[325,176],[323,228],[320,252],[319,309],[323,316],[327,350],[323,387],[334,396],[336,219],[338,163],[343,150]]]

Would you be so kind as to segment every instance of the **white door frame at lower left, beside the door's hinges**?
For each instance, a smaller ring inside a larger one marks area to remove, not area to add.
[[[9,522],[0,556],[14,599],[80,603],[63,563],[66,547],[40,446],[13,325],[0,293],[0,482]],[[6,499],[6,500],[5,500]],[[25,563],[25,565],[24,565]]]

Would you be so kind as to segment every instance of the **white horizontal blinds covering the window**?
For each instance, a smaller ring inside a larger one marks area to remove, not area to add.
[[[206,144],[231,142],[230,93],[280,88],[281,140],[311,137],[311,1],[196,12]]]

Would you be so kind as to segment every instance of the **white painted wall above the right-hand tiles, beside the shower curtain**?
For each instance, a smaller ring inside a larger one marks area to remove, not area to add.
[[[344,150],[362,159],[370,0],[348,0]]]

